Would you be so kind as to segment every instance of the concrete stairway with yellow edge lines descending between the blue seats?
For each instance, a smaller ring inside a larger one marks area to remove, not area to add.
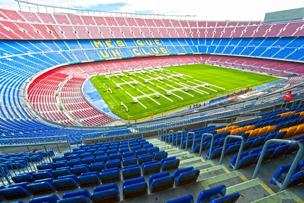
[[[180,159],[179,168],[193,166],[200,170],[200,176],[196,183],[174,187],[169,191],[149,194],[147,196],[133,199],[133,202],[154,201],[165,202],[185,195],[192,194],[194,199],[198,198],[201,191],[210,189],[219,185],[226,186],[226,194],[239,192],[241,194],[237,202],[304,202],[290,189],[275,193],[261,179],[249,180],[240,171],[230,171],[223,164],[216,165],[212,160],[205,160],[198,157],[198,153],[189,153],[184,149],[176,148],[157,137],[146,138],[146,141],[160,148],[160,151],[168,152],[168,157],[175,156]],[[173,175],[175,170],[169,171]],[[251,177],[250,177],[251,178]],[[157,200],[157,201],[155,201]],[[129,201],[126,201],[129,202]]]

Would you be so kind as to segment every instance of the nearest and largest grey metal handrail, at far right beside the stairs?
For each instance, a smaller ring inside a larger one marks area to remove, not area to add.
[[[265,152],[267,150],[267,147],[272,144],[272,143],[283,143],[283,144],[292,144],[292,145],[298,145],[299,146],[299,150],[295,156],[295,158],[293,159],[293,162],[290,166],[290,169],[285,177],[285,180],[283,182],[283,184],[279,187],[280,187],[280,192],[285,190],[288,186],[288,183],[295,171],[295,168],[297,167],[298,163],[300,162],[301,160],[301,157],[302,155],[304,154],[304,144],[301,143],[301,142],[298,142],[298,141],[294,141],[294,140],[279,140],[279,139],[273,139],[273,140],[269,140],[267,142],[265,142],[264,146],[263,146],[263,149],[261,151],[261,155],[258,159],[258,162],[256,164],[256,167],[255,167],[255,170],[254,170],[254,173],[253,173],[253,176],[252,176],[252,179],[255,179],[256,176],[257,176],[257,173],[258,173],[258,170],[262,164],[262,161],[263,161],[263,158],[264,158],[264,155],[265,155]]]

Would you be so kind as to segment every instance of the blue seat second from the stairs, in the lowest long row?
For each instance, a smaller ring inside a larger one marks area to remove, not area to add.
[[[173,188],[174,177],[169,172],[163,172],[149,177],[150,193],[160,192]]]

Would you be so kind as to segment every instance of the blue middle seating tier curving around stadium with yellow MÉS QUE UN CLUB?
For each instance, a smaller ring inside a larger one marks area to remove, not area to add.
[[[119,39],[117,39],[119,40]],[[166,44],[166,49],[169,54],[178,53],[216,53],[216,54],[232,54],[243,56],[260,56],[273,57],[279,59],[299,60],[304,61],[302,45],[303,37],[290,38],[234,38],[223,39],[220,42],[211,43],[207,40],[182,40],[183,44],[176,39],[159,39],[162,45]],[[104,43],[104,40],[101,40]],[[112,40],[115,41],[115,40]],[[111,42],[112,48],[96,47],[93,40],[78,40],[78,41],[8,41],[2,40],[0,50],[2,58],[0,59],[0,81],[2,89],[2,107],[1,107],[1,139],[2,144],[10,142],[18,142],[9,140],[12,138],[33,138],[33,137],[48,137],[59,136],[66,134],[70,143],[75,143],[81,139],[82,133],[95,132],[95,130],[76,130],[76,129],[60,129],[59,127],[44,124],[34,120],[18,97],[22,84],[31,76],[49,69],[52,66],[63,63],[70,63],[80,60],[88,60],[84,52],[74,50],[73,54],[70,50],[86,48],[86,52],[90,60],[104,59],[100,54],[96,54],[95,50],[106,51],[106,49],[115,49],[120,53],[119,57],[136,56],[130,51],[130,47],[135,47],[136,44],[132,39],[121,40],[126,46],[119,47],[115,42]],[[151,47],[159,49],[156,44],[152,46],[141,40],[144,46],[142,48],[149,49]],[[255,43],[254,43],[255,42]],[[20,46],[20,44],[22,46]],[[66,46],[69,45],[69,48]],[[80,47],[81,45],[81,47]],[[27,47],[25,49],[25,47]],[[60,47],[61,50],[58,49]],[[40,53],[43,50],[43,53]],[[196,50],[196,51],[193,51]],[[59,52],[60,51],[60,52]],[[39,52],[39,53],[37,53]],[[160,51],[161,52],[161,51]],[[108,58],[115,58],[108,51]],[[145,54],[147,53],[147,54]],[[161,52],[162,53],[162,52]],[[16,55],[18,54],[18,56]],[[149,55],[149,52],[140,52],[141,55]],[[17,98],[17,99],[16,99]],[[7,112],[7,113],[5,113]],[[16,119],[17,118],[17,119]],[[127,131],[127,129],[124,129]],[[98,130],[100,131],[100,130]],[[116,133],[113,132],[113,133]],[[118,132],[121,134],[122,132]],[[109,134],[109,136],[111,136]],[[178,139],[177,139],[178,140]],[[183,144],[184,145],[184,144]]]

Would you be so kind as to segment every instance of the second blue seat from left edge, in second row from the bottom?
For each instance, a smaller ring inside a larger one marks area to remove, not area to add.
[[[39,181],[35,181],[33,184],[29,184],[26,186],[26,189],[32,195],[46,194],[51,192],[56,192],[53,187],[53,178],[43,179]]]

